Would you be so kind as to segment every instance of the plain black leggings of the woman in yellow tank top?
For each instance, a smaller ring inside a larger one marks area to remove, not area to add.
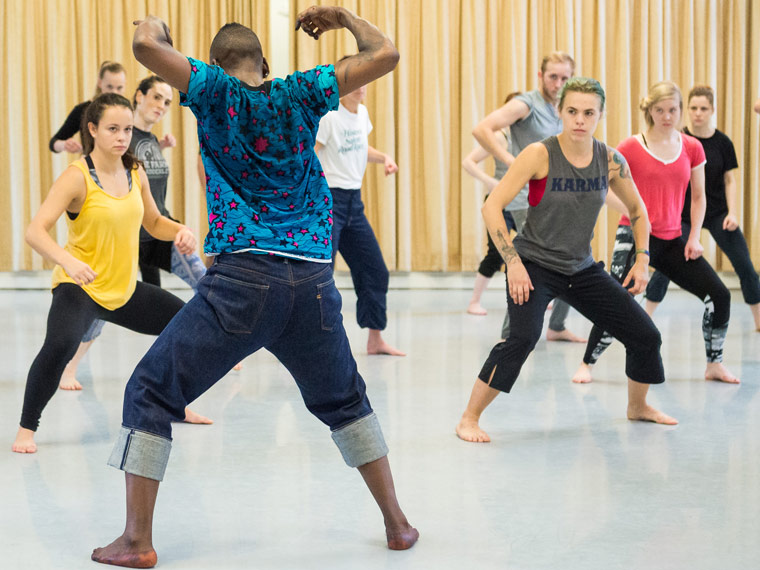
[[[184,304],[182,299],[168,291],[138,281],[129,301],[109,311],[93,301],[78,285],[58,285],[53,289],[45,342],[26,379],[21,427],[37,430],[42,410],[55,394],[63,369],[95,319],[135,332],[158,335]]]

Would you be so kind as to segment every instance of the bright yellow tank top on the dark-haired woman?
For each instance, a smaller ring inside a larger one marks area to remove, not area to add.
[[[97,273],[82,289],[98,305],[113,311],[129,301],[137,284],[140,225],[143,218],[142,192],[137,168],[132,170],[132,188],[115,198],[93,180],[84,159],[72,163],[84,174],[87,197],[75,219],[66,215],[69,235],[64,249]],[[63,267],[53,269],[53,289],[74,283]]]

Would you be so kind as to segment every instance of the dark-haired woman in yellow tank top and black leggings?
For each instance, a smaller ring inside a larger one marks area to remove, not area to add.
[[[37,450],[34,433],[42,410],[95,319],[158,335],[184,305],[168,291],[137,282],[140,225],[158,239],[172,240],[182,253],[196,247],[188,228],[159,213],[145,171],[128,152],[129,101],[101,95],[85,120],[85,156],[55,181],[26,231],[27,243],[56,267],[45,342],[29,369],[13,444],[19,453]],[[49,231],[64,212],[69,232],[61,247]]]

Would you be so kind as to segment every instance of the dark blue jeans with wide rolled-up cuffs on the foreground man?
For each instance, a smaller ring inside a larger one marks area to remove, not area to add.
[[[290,371],[306,407],[333,431],[349,466],[385,456],[340,310],[329,264],[252,253],[218,256],[198,294],[132,373],[109,465],[161,480],[171,422],[182,420],[188,403],[260,348]]]

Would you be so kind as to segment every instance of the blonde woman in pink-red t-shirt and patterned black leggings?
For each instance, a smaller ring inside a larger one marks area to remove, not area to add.
[[[628,161],[652,225],[650,265],[705,304],[702,332],[707,354],[706,380],[738,383],[723,366],[723,343],[728,330],[731,294],[702,257],[699,231],[705,216],[705,152],[699,141],[680,132],[683,98],[674,83],[662,81],[649,89],[641,102],[646,131],[618,145]],[[691,182],[691,231],[681,234],[681,211],[686,188]],[[622,281],[633,263],[634,248],[630,221],[620,219],[610,271]],[[591,367],[612,342],[612,337],[594,327],[589,335],[583,363],[573,382],[591,381]]]

